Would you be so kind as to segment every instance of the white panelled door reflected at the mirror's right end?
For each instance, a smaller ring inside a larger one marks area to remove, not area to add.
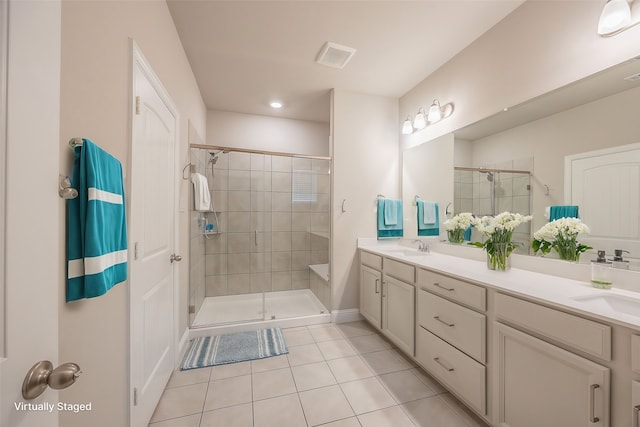
[[[640,253],[640,144],[565,157],[565,200],[590,233],[582,240],[613,255]]]

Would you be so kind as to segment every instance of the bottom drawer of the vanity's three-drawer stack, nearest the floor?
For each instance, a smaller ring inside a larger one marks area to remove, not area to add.
[[[479,414],[486,414],[485,367],[424,328],[418,328],[416,359]]]

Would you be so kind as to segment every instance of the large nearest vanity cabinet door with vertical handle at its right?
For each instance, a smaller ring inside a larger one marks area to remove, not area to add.
[[[609,426],[609,369],[496,325],[495,424]]]

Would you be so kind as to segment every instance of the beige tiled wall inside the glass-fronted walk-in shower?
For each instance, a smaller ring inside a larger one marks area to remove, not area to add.
[[[212,176],[209,151],[192,149],[216,211],[192,224],[218,230],[204,239],[205,295],[310,288],[309,265],[329,262],[329,161],[220,153]]]

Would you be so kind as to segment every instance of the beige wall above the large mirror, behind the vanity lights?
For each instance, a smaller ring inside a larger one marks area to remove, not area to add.
[[[400,99],[398,122],[434,98],[451,117],[401,143],[409,148],[638,55],[640,26],[614,37],[596,27],[603,2],[527,1]]]

